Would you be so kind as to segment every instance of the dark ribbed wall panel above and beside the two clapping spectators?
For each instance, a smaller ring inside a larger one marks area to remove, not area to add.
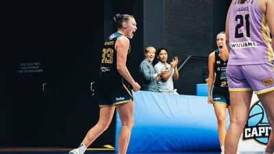
[[[196,94],[196,84],[203,83],[202,67],[208,64],[212,50],[214,8],[213,0],[164,0],[164,47],[169,52],[169,62],[178,56],[179,65],[189,55],[174,87],[179,94]]]

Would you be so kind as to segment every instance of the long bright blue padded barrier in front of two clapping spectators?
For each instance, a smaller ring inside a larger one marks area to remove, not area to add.
[[[207,97],[133,92],[134,127],[127,152],[219,151],[214,108]],[[116,141],[121,129],[116,114]]]

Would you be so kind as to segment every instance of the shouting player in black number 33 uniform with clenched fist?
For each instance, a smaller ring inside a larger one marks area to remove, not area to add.
[[[128,14],[115,14],[114,21],[117,23],[118,31],[105,40],[101,55],[98,123],[86,133],[79,147],[69,151],[69,154],[83,154],[86,148],[108,129],[116,109],[122,125],[118,139],[118,153],[127,152],[134,124],[134,103],[131,90],[126,84],[129,84],[134,92],[140,90],[140,85],[127,69],[127,55],[130,52],[129,38],[133,38],[137,24],[134,16]]]

